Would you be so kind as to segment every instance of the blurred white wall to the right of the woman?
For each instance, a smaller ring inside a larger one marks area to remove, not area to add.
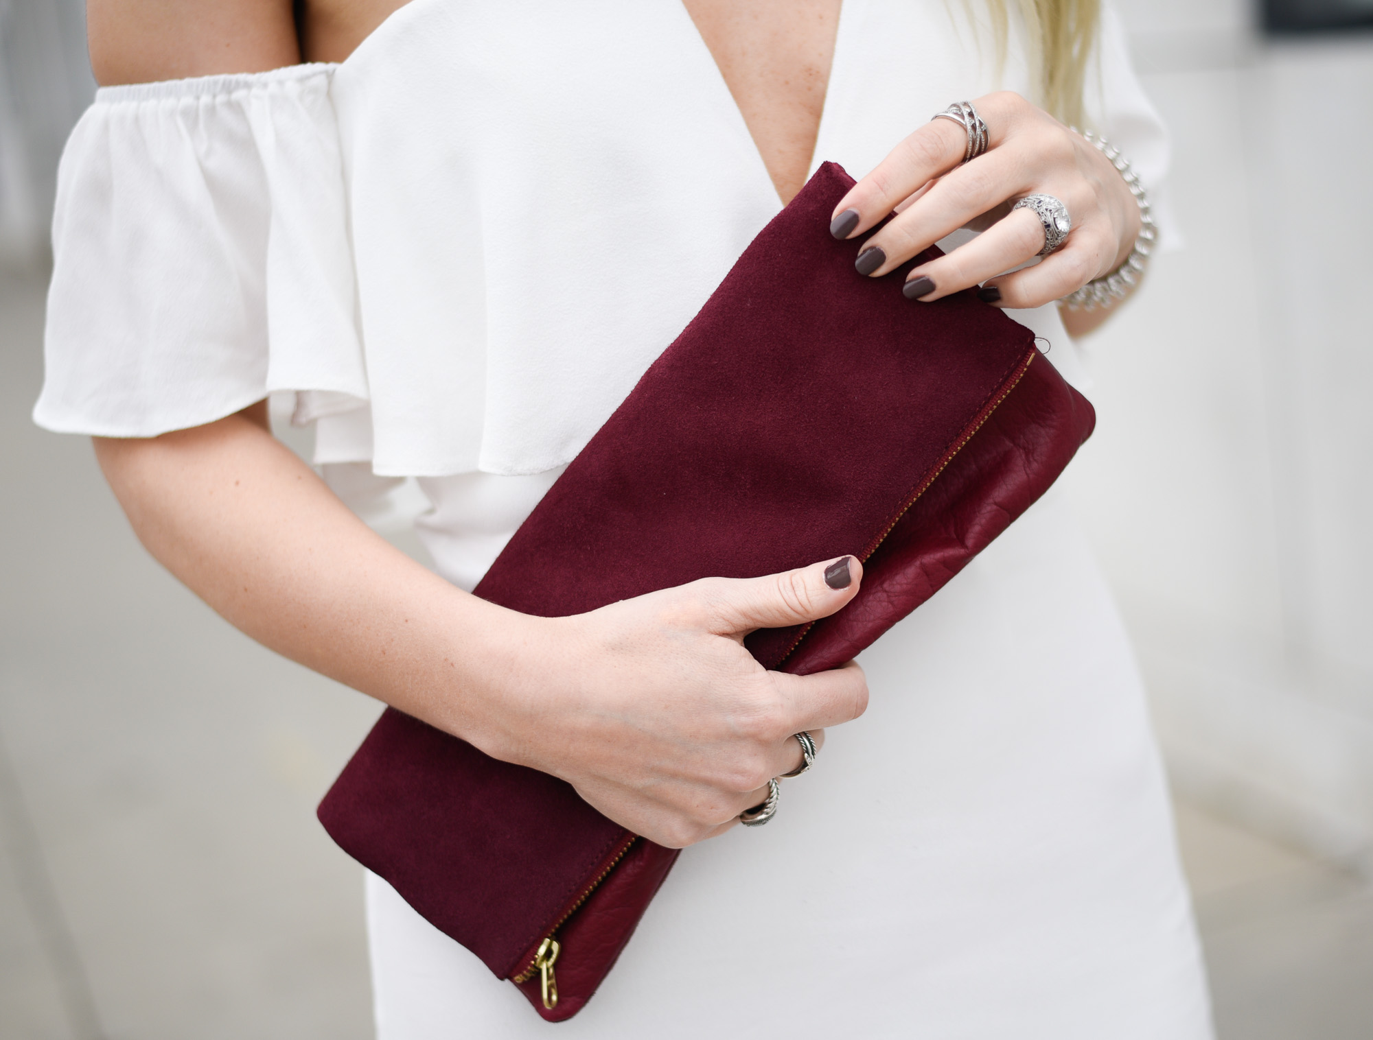
[[[1072,491],[1184,793],[1373,851],[1373,40],[1131,0],[1186,250],[1089,340]]]

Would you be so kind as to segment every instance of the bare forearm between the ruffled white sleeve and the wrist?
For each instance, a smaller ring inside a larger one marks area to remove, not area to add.
[[[389,545],[277,442],[261,406],[150,440],[96,439],[139,539],[233,626],[472,737],[523,616]],[[257,421],[254,421],[257,420]]]

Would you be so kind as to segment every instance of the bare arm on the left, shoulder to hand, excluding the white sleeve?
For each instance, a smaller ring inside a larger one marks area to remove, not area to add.
[[[91,51],[102,82],[298,59],[288,0],[91,0]],[[781,675],[743,648],[752,628],[849,602],[857,561],[833,584],[817,564],[541,619],[476,600],[376,536],[272,436],[262,403],[158,438],[97,438],[96,454],[143,545],[244,633],[567,779],[663,844],[732,826],[800,761],[791,734],[820,737],[866,705],[857,665]]]

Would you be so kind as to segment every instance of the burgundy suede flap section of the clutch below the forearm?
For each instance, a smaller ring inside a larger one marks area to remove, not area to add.
[[[330,836],[501,978],[627,836],[546,772],[387,709],[319,809]]]

